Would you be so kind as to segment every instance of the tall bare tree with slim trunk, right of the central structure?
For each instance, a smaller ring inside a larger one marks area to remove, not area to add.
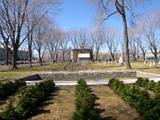
[[[139,2],[142,0],[96,0],[101,5],[100,14],[104,20],[107,20],[114,14],[119,14],[123,22],[123,34],[124,34],[124,48],[125,48],[125,63],[126,68],[131,69],[130,59],[129,59],[129,39],[128,39],[128,27],[127,27],[127,17],[126,12],[129,11],[133,13],[133,7],[138,6]],[[108,13],[108,14],[107,14]],[[104,18],[105,17],[105,18]]]

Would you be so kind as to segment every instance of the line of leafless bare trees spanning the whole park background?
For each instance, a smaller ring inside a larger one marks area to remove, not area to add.
[[[33,52],[36,51],[40,65],[45,53],[48,52],[52,62],[58,61],[61,50],[65,62],[65,52],[71,48],[90,48],[99,60],[99,53],[107,49],[113,61],[117,53],[123,52],[127,68],[130,66],[130,56],[134,60],[142,54],[151,51],[158,59],[159,42],[159,13],[151,11],[134,17],[133,24],[128,27],[127,13],[133,14],[140,0],[126,2],[125,0],[95,0],[98,5],[97,20],[107,22],[114,14],[122,17],[124,31],[118,28],[106,28],[97,24],[93,28],[77,28],[69,31],[62,30],[50,14],[58,11],[58,0],[0,0],[0,43],[6,49],[5,63],[12,54],[12,68],[17,68],[17,55],[20,47],[28,47],[29,65],[32,67]],[[141,2],[143,3],[143,2]],[[112,6],[111,8],[109,6]],[[114,9],[113,9],[114,8]],[[108,9],[111,9],[109,12]],[[121,36],[124,36],[121,38]]]

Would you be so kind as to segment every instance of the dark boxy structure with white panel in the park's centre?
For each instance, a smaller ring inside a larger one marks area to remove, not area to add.
[[[93,60],[91,49],[72,49],[71,60],[75,63],[89,63]]]

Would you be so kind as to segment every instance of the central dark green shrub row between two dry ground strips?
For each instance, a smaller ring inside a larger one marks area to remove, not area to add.
[[[73,120],[100,120],[99,112],[95,109],[96,96],[87,86],[84,79],[78,81],[76,86],[76,111],[73,113]]]

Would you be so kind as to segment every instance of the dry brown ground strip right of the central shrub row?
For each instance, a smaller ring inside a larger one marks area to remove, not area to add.
[[[107,86],[91,87],[99,100],[103,120],[139,120],[139,114]]]

